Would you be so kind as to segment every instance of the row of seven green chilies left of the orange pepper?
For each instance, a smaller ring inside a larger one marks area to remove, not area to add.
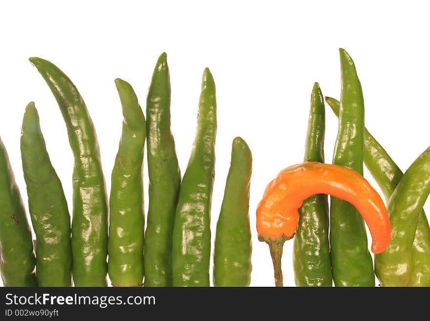
[[[192,154],[181,181],[170,129],[166,54],[154,68],[146,119],[129,83],[115,85],[122,135],[108,199],[97,136],[76,86],[54,64],[30,58],[62,112],[74,155],[73,213],[45,147],[34,103],[25,109],[21,158],[36,255],[21,195],[0,140],[0,272],[4,286],[209,286],[211,200],[215,178],[215,82],[204,70]],[[147,141],[149,211],[143,202]],[[251,280],[249,191],[252,156],[233,140],[231,166],[216,226],[214,285]],[[107,260],[108,258],[108,260]],[[35,269],[36,267],[36,269]],[[144,284],[143,284],[144,280]]]

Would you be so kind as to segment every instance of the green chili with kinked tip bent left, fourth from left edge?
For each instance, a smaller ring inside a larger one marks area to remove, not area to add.
[[[108,273],[113,286],[142,286],[144,276],[143,153],[145,116],[133,88],[115,85],[123,110],[123,128],[109,199]]]

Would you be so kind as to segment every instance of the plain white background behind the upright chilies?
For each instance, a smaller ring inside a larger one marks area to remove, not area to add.
[[[257,203],[281,169],[302,161],[313,83],[319,82],[324,95],[339,98],[339,47],[356,64],[366,127],[397,164],[406,170],[430,144],[430,23],[425,1],[153,2],[1,2],[0,136],[25,204],[20,128],[30,101],[36,102],[70,213],[72,204],[73,157],[64,121],[47,85],[28,62],[31,56],[57,64],[84,97],[97,130],[108,193],[122,121],[114,79],[127,80],[144,108],[155,62],[167,52],[172,132],[184,173],[194,140],[201,75],[204,67],[211,69],[218,105],[212,234],[214,238],[231,142],[241,136],[254,158],[252,286],[274,283],[268,247],[257,240]],[[326,111],[325,154],[330,162],[337,119],[328,107]],[[365,176],[377,188],[368,172]],[[147,207],[146,170],[144,179]],[[294,285],[292,245],[289,241],[284,246],[286,286]]]

